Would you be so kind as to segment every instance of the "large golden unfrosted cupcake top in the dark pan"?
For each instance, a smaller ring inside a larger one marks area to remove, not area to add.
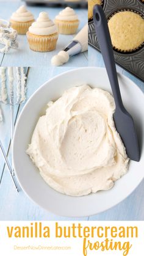
[[[129,52],[144,42],[144,19],[139,13],[129,10],[117,12],[108,22],[113,48]]]

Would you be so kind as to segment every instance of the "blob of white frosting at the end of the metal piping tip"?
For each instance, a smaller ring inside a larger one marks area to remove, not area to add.
[[[67,51],[60,51],[57,55],[52,57],[51,64],[53,66],[61,66],[64,63],[67,63],[69,58],[70,57],[69,57]]]

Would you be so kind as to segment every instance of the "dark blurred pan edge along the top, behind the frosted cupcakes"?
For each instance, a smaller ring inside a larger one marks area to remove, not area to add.
[[[67,1],[67,0],[24,0],[26,4],[46,4],[50,6],[62,5],[70,7],[87,7],[87,0]]]

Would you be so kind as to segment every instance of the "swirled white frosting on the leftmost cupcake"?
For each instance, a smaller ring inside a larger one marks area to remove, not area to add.
[[[27,11],[24,5],[21,5],[21,7],[16,10],[16,12],[13,12],[10,18],[14,21],[26,22],[34,20],[34,15],[32,15],[31,12]]]

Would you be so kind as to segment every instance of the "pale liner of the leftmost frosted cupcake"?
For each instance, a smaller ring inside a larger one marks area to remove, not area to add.
[[[34,20],[26,22],[10,20],[10,25],[13,29],[15,29],[18,32],[19,35],[26,35],[26,32],[29,30],[29,27],[33,22]]]

